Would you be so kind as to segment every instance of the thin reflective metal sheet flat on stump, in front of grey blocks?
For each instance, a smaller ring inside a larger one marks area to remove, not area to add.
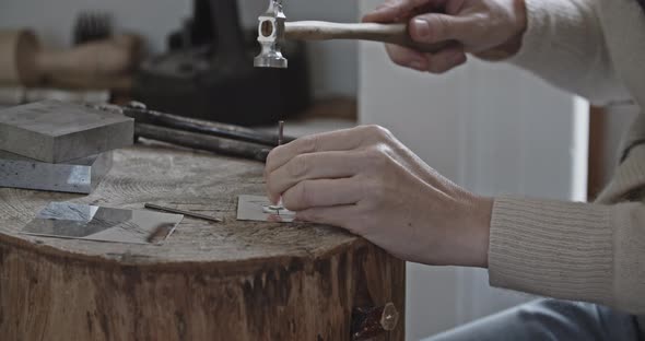
[[[165,240],[184,215],[51,202],[21,233],[128,244]]]

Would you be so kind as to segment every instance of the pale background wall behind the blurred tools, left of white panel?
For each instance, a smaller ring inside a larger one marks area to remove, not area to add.
[[[238,0],[243,23],[257,24],[268,0]],[[355,1],[284,0],[289,20],[356,20]],[[191,0],[0,0],[0,28],[32,27],[50,46],[68,46],[74,19],[83,10],[115,15],[119,31],[142,34],[154,52],[165,48],[166,35],[191,15]],[[313,43],[309,47],[317,96],[356,93],[356,44]]]

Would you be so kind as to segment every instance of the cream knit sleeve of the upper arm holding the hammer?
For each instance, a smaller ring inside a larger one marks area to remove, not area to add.
[[[629,98],[617,80],[596,0],[525,0],[527,31],[507,61],[596,104]]]

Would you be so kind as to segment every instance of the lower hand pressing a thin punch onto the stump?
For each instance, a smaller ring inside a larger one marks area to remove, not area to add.
[[[269,199],[282,197],[297,220],[347,228],[410,261],[488,264],[492,200],[442,177],[384,128],[279,146],[265,178]]]

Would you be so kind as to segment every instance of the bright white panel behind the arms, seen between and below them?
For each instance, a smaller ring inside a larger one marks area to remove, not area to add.
[[[379,0],[362,0],[361,10]],[[585,200],[588,104],[506,64],[471,60],[445,75],[394,66],[359,48],[364,124],[389,128],[432,167],[481,195]],[[408,340],[525,302],[482,270],[408,266]]]

